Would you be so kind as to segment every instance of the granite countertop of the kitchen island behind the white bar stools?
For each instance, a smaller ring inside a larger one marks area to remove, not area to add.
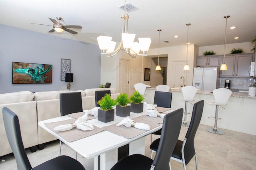
[[[147,87],[147,89],[156,90],[154,87]],[[181,92],[181,89],[170,89],[170,92]],[[198,90],[197,94],[203,94],[203,95],[213,95],[211,93],[211,90]],[[256,96],[249,96],[247,92],[232,92],[231,97],[243,97],[243,98],[250,98],[250,99],[256,99]]]

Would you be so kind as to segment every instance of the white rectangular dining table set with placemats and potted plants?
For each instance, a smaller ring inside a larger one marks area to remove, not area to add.
[[[170,113],[174,110],[166,111],[166,113]],[[143,113],[130,113],[130,118],[139,117],[145,115],[146,112]],[[162,128],[162,124],[159,124],[158,127],[153,128],[151,130],[145,130],[144,133],[139,134],[133,138],[124,138],[107,130],[103,130],[99,133],[93,134],[91,136],[81,138],[79,140],[75,140],[72,142],[68,142],[61,136],[59,136],[56,132],[50,130],[46,127],[44,123],[58,122],[72,119],[68,116],[56,117],[53,119],[48,119],[44,121],[38,122],[38,125],[45,130],[47,130],[50,134],[54,135],[56,138],[64,142],[67,146],[75,150],[77,153],[82,155],[84,158],[90,159],[94,158],[94,170],[109,170],[114,164],[116,164],[118,160],[118,148],[129,144],[129,155],[131,154],[145,154],[145,139],[148,134],[155,132]],[[108,125],[117,124],[122,121],[122,117],[116,116],[114,117],[114,121],[104,123],[98,121],[98,119],[91,119],[86,122],[91,123],[97,127],[105,127]],[[100,167],[98,167],[98,156],[100,155]]]

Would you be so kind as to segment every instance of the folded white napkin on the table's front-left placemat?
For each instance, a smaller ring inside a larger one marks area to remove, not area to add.
[[[84,116],[79,117],[75,123],[68,124],[68,125],[60,125],[58,127],[55,127],[54,130],[63,132],[66,130],[71,130],[74,127],[84,131],[93,130],[94,129],[93,125],[90,123],[85,123],[86,120],[87,120],[87,113],[85,113]]]

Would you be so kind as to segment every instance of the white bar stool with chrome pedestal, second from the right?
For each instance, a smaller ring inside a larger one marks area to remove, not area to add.
[[[189,123],[187,122],[187,115],[190,114],[187,112],[188,102],[194,101],[194,97],[196,95],[197,89],[194,86],[186,86],[181,88],[183,99],[178,99],[180,101],[185,101],[185,109],[184,109],[184,122],[182,123],[183,127],[189,127]]]

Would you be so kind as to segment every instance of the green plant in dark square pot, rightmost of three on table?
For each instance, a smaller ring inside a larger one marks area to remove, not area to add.
[[[144,97],[138,91],[135,91],[130,96],[130,100],[132,101],[131,112],[134,112],[134,113],[143,112],[143,103],[141,102],[144,100]]]

